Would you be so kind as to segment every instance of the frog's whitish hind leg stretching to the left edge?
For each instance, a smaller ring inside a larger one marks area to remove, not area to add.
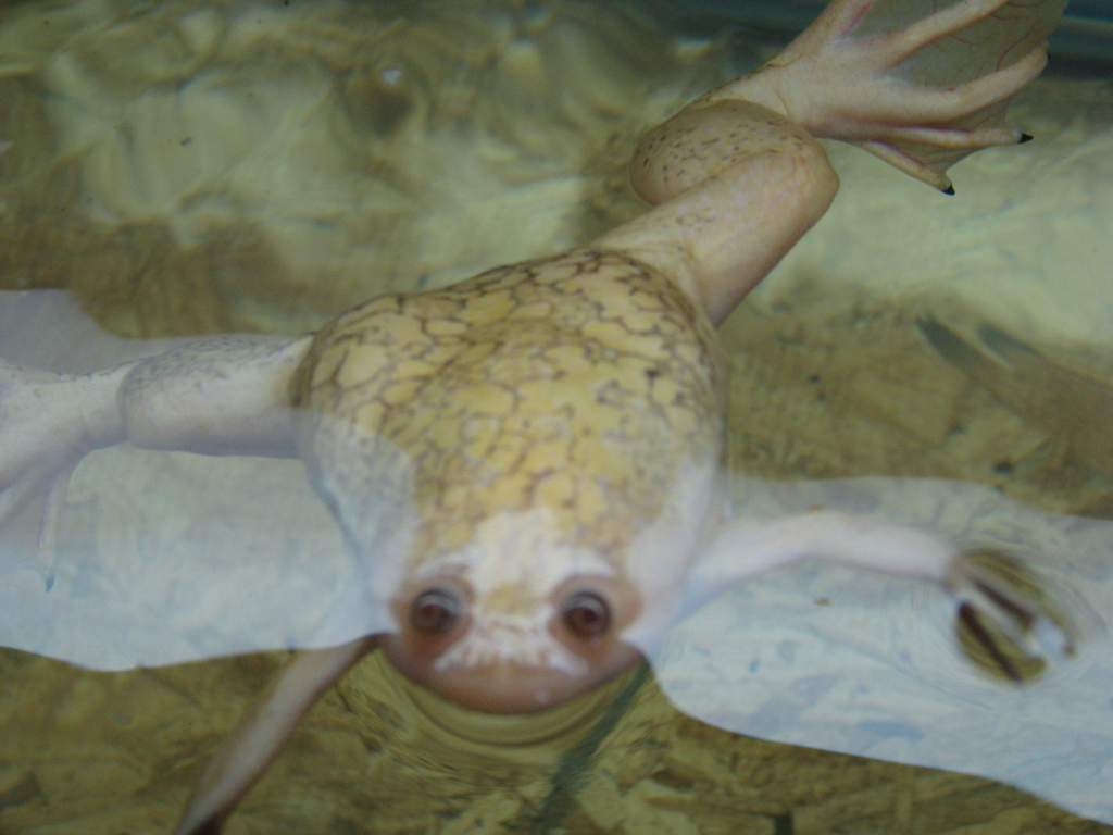
[[[309,337],[218,336],[82,375],[0,361],[0,524],[46,497],[38,559],[49,584],[51,523],[90,451],[130,442],[294,455],[290,379],[308,345]]]

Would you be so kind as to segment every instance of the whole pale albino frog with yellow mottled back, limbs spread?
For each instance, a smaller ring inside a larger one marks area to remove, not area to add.
[[[1017,638],[1040,622],[933,534],[824,510],[731,520],[722,482],[715,326],[834,199],[817,138],[948,194],[957,159],[1031,138],[1004,111],[1044,68],[1062,0],[936,6],[831,2],[770,63],[651,131],[631,178],[654,207],[582,248],[375,298],[299,338],[198,340],[79,376],[0,365],[0,513],[47,491],[49,522],[81,458],[125,441],[297,455],[374,566],[381,630],[301,652],[178,832],[216,832],[374,648],[464,706],[540,710],[801,557],[936,582]]]

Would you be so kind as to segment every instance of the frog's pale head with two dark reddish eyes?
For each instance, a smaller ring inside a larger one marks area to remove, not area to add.
[[[402,672],[457,704],[528,713],[633,664],[622,633],[641,602],[609,560],[554,536],[549,513],[504,512],[407,578],[384,648]]]

